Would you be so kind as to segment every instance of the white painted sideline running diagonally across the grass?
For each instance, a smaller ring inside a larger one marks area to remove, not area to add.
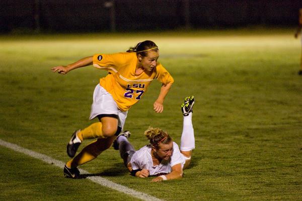
[[[48,164],[51,164],[51,165],[55,165],[59,168],[64,168],[64,165],[65,163],[63,163],[62,161],[58,161],[58,160],[55,160],[51,157],[48,157],[44,154],[39,154],[37,152],[34,152],[34,151],[31,151],[31,150],[28,150],[28,149],[25,149],[25,148],[22,148],[18,145],[15,145],[15,144],[12,144],[12,143],[8,143],[6,141],[3,141],[0,139],[0,145],[4,146],[4,147],[7,147],[9,149],[12,149],[16,152],[20,152],[22,154],[26,154],[28,156],[31,156],[33,158],[36,158],[36,159],[40,159],[41,161],[44,161]],[[84,174],[90,174],[89,172],[83,170],[83,169],[79,169],[81,173],[84,173]],[[101,176],[91,176],[91,177],[87,177],[87,179],[90,179],[91,181],[95,182],[95,183],[98,183],[98,184],[101,184],[103,186],[106,186],[108,188],[112,188],[114,190],[117,190],[117,191],[120,191],[120,192],[123,192],[123,193],[126,193],[128,195],[131,195],[133,197],[136,197],[136,198],[139,198],[139,199],[142,199],[142,200],[149,200],[149,201],[163,201],[162,199],[159,199],[157,197],[154,197],[154,196],[151,196],[151,195],[148,195],[146,193],[143,193],[143,192],[138,192],[136,190],[133,190],[131,188],[128,188],[126,186],[123,186],[123,185],[120,185],[120,184],[117,184],[117,183],[114,183],[112,181],[109,181],[108,179],[105,179]]]

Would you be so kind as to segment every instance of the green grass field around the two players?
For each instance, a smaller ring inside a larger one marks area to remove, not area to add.
[[[157,114],[154,81],[130,109],[125,129],[136,149],[147,143],[142,133],[150,125],[180,143],[180,104],[194,95],[190,168],[181,180],[152,183],[130,176],[112,148],[81,168],[164,200],[302,200],[302,77],[293,33],[2,35],[0,139],[67,161],[65,146],[74,129],[92,123],[93,90],[106,72],[90,66],[63,76],[50,69],[149,39],[175,84]],[[0,200],[137,200],[88,179],[66,179],[62,169],[1,146],[0,164]]]

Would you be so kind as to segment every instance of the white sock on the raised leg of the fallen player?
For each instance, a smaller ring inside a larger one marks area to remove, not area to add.
[[[180,140],[181,151],[191,151],[195,148],[194,129],[192,124],[192,112],[184,116],[183,131]]]

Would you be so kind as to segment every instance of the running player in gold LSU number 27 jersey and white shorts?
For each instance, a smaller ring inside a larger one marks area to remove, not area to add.
[[[111,147],[123,129],[128,110],[142,98],[153,79],[162,83],[160,94],[153,104],[154,111],[163,112],[164,99],[174,79],[158,58],[158,46],[153,41],[146,40],[127,52],[95,54],[51,69],[65,75],[71,70],[93,64],[98,69],[108,71],[108,75],[100,79],[93,94],[90,119],[98,117],[99,122],[74,131],[67,144],[67,154],[72,159],[65,164],[65,176],[80,178],[77,167],[97,158]],[[85,139],[96,140],[75,156]]]

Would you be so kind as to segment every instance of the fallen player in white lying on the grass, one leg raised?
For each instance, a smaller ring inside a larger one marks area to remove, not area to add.
[[[144,135],[150,144],[138,151],[135,151],[128,141],[129,131],[118,136],[113,147],[120,151],[121,158],[131,175],[141,178],[156,176],[153,182],[182,178],[183,169],[190,164],[192,150],[195,148],[192,124],[193,105],[193,96],[186,97],[181,105],[184,118],[180,149],[169,134],[161,128],[148,128]]]

